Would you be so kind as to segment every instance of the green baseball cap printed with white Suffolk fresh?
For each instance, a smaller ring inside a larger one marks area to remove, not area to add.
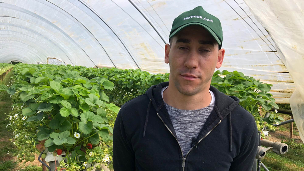
[[[183,12],[174,19],[169,40],[183,28],[191,25],[199,25],[205,28],[221,47],[223,42],[221,21],[206,12],[201,6],[195,7],[190,11]]]

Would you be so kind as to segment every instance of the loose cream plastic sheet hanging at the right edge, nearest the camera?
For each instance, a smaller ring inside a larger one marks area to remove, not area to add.
[[[269,31],[296,90],[290,99],[292,114],[304,142],[304,2],[298,0],[245,0]]]

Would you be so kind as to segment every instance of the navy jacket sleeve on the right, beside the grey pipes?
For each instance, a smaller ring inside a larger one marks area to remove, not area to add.
[[[254,131],[249,137],[248,142],[238,156],[233,159],[229,171],[251,171],[255,155],[259,146],[258,128],[254,124]]]

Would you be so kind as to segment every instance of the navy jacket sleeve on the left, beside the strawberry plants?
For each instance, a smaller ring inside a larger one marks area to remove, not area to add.
[[[113,167],[115,171],[135,170],[135,155],[125,132],[122,110],[117,114],[113,129]]]

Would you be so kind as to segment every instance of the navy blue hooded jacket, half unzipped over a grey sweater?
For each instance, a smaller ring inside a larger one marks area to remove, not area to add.
[[[168,85],[154,85],[121,107],[113,131],[114,170],[251,171],[259,136],[239,99],[210,86],[215,107],[183,154],[161,96]]]

